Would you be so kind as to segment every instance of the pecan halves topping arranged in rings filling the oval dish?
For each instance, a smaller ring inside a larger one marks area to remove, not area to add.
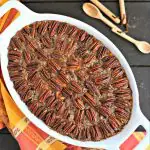
[[[120,132],[132,111],[132,91],[118,59],[94,36],[58,21],[39,21],[8,47],[14,88],[53,130],[82,141]]]

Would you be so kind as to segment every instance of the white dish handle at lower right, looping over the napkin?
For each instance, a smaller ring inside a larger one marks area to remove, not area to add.
[[[150,145],[150,121],[143,115],[143,113],[140,110],[140,113],[138,115],[139,118],[139,125],[143,126],[146,130],[146,135],[143,138],[142,141],[134,148],[134,150],[144,150],[147,146]]]

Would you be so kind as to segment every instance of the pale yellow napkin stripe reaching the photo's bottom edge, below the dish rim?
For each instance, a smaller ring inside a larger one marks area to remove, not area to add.
[[[49,146],[55,141],[56,139],[53,139],[52,137],[48,137],[38,145],[36,150],[47,150]],[[52,149],[50,148],[49,150],[52,150]]]

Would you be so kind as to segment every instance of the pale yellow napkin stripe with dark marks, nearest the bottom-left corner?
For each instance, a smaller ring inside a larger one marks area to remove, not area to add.
[[[26,117],[22,118],[13,129],[14,136],[17,137],[28,126],[29,122]]]

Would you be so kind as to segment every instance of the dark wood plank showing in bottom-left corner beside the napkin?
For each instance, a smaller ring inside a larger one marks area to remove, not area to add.
[[[17,141],[10,134],[1,134],[0,150],[20,150],[20,148]]]

